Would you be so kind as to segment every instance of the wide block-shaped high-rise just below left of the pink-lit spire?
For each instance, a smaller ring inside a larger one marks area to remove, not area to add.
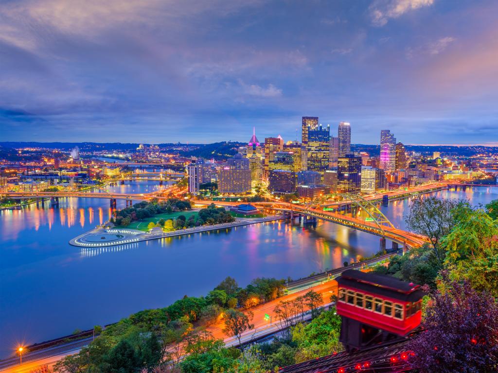
[[[222,194],[247,194],[250,190],[249,160],[236,154],[218,169],[218,191]]]

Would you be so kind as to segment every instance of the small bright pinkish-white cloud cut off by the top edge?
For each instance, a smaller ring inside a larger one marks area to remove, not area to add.
[[[370,16],[375,26],[383,26],[389,18],[397,18],[410,10],[433,3],[434,0],[376,0],[370,6]]]

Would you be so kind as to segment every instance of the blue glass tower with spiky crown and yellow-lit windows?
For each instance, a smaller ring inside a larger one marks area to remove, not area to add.
[[[329,168],[330,158],[330,127],[320,126],[316,129],[308,129],[308,143],[306,144],[308,154],[308,170],[317,171],[323,175]]]

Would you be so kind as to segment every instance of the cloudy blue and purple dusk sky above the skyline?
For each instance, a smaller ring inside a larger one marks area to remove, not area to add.
[[[0,141],[498,145],[496,0],[2,0]]]

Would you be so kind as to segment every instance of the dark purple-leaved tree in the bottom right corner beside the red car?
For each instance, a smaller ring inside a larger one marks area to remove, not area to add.
[[[487,292],[443,273],[442,291],[432,294],[424,331],[410,340],[410,364],[421,373],[496,372],[498,304]]]

